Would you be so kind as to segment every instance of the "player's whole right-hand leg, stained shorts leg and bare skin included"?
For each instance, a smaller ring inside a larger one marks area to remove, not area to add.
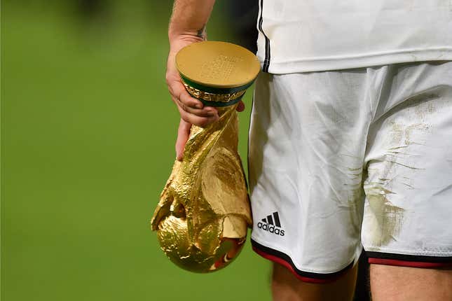
[[[366,155],[373,300],[452,300],[452,63],[392,66]]]

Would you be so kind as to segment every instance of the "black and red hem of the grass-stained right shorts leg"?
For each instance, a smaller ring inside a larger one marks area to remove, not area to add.
[[[451,268],[452,256],[406,255],[397,253],[366,252],[369,263],[397,267],[420,267],[425,269]]]

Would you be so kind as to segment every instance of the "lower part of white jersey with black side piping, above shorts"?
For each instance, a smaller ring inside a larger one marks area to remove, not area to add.
[[[452,0],[259,0],[263,71],[452,59]]]

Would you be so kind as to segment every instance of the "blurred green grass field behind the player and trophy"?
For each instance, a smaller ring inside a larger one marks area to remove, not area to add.
[[[270,300],[249,241],[228,268],[193,274],[149,229],[179,115],[164,76],[172,1],[147,2],[114,1],[94,23],[59,1],[2,2],[1,300]],[[218,4],[209,38],[228,41]]]

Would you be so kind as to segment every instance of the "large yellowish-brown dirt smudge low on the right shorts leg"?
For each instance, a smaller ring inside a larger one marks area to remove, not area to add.
[[[402,229],[404,209],[397,207],[388,200],[388,195],[394,194],[380,186],[366,188],[369,209],[373,216],[371,239],[374,246],[388,244],[397,239]]]

